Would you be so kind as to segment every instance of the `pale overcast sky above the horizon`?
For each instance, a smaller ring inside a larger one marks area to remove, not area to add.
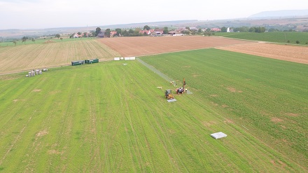
[[[0,29],[220,20],[247,18],[262,11],[304,9],[308,9],[308,0],[0,0]]]

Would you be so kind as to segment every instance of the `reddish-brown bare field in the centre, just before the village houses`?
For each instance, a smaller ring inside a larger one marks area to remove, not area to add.
[[[116,50],[123,57],[253,43],[253,41],[216,36],[141,36],[99,39],[99,41]]]

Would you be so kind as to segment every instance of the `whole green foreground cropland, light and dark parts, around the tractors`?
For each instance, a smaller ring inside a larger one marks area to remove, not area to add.
[[[0,172],[307,172],[307,65],[215,49],[142,60],[193,95],[168,103],[174,87],[137,61],[0,76]]]

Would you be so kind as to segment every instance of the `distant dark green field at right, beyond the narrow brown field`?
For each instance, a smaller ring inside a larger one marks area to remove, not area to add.
[[[307,32],[264,32],[264,33],[251,33],[251,32],[217,32],[215,36],[224,36],[233,39],[247,39],[255,41],[269,41],[276,43],[297,44],[296,41],[300,41],[300,45],[307,45],[308,33]]]

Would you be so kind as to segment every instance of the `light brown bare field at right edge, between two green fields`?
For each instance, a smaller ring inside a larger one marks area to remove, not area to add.
[[[308,64],[307,46],[278,45],[273,43],[249,43],[245,45],[225,46],[218,49]]]

